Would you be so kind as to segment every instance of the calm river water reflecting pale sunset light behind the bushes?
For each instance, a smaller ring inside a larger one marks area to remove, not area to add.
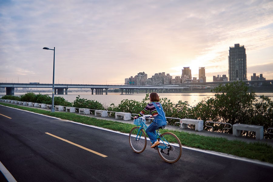
[[[24,95],[25,93],[15,92],[15,96]],[[35,93],[38,94],[38,93]],[[41,93],[48,94],[51,96],[51,93]],[[133,94],[121,94],[121,93],[108,93],[108,95],[91,95],[91,92],[69,92],[68,95],[55,95],[61,96],[69,102],[73,102],[77,96],[80,98],[88,99],[88,100],[97,100],[99,103],[102,103],[103,106],[110,106],[110,104],[114,103],[116,106],[120,104],[123,99],[142,101],[145,98],[145,93],[133,93]],[[177,103],[179,100],[188,101],[190,106],[194,106],[199,103],[202,99],[206,99],[207,97],[213,97],[214,93],[158,93],[160,98],[170,99],[172,103]],[[259,97],[260,95],[268,96],[271,100],[273,100],[273,93],[256,93]],[[3,95],[0,95],[0,98]]]

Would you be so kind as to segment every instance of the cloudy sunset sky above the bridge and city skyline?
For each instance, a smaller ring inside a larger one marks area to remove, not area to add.
[[[229,47],[247,77],[273,79],[273,1],[0,0],[0,83],[123,85],[145,72],[207,82],[228,76]]]

